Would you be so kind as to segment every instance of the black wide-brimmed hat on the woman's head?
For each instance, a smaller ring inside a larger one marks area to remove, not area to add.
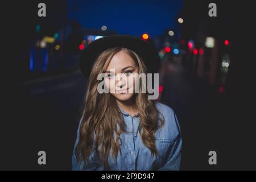
[[[147,67],[147,73],[158,73],[160,58],[153,44],[129,35],[112,35],[97,39],[85,47],[80,56],[80,69],[89,78],[92,66],[97,57],[106,49],[125,47],[137,53]]]

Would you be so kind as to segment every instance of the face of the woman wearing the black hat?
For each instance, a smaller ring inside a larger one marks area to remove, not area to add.
[[[109,93],[118,101],[128,101],[133,97],[138,80],[138,74],[134,73],[139,73],[135,61],[124,51],[115,53],[106,68],[104,80]]]

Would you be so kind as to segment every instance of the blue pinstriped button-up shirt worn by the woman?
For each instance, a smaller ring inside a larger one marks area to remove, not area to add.
[[[117,161],[113,159],[112,155],[109,156],[109,170],[179,170],[182,145],[179,122],[171,107],[156,102],[156,108],[164,116],[164,126],[155,133],[155,142],[159,155],[152,156],[151,151],[143,144],[138,132],[138,114],[131,117],[119,107],[127,126],[126,130],[132,132],[121,134],[123,142],[121,145],[122,154],[119,151]],[[79,130],[77,130],[75,147],[78,142]],[[77,162],[75,147],[72,156],[72,170],[105,170],[100,165],[96,152],[93,152],[90,156],[88,164]]]

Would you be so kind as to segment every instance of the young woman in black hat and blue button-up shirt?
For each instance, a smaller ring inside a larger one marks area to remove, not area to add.
[[[107,36],[85,48],[80,68],[89,80],[73,170],[179,169],[182,139],[174,111],[148,99],[141,85],[135,92],[134,75],[157,72],[158,58],[149,43],[133,36]],[[101,73],[109,93],[98,91]]]

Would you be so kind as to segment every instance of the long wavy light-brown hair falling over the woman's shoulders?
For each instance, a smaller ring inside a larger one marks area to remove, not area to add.
[[[95,151],[105,168],[109,167],[108,158],[110,153],[115,159],[117,159],[119,151],[122,154],[121,134],[127,131],[123,115],[114,96],[110,93],[100,94],[97,92],[97,85],[101,82],[101,80],[97,80],[97,77],[100,73],[106,71],[110,60],[119,51],[125,51],[135,61],[139,68],[139,74],[146,73],[146,66],[141,57],[130,49],[109,48],[98,56],[88,80],[79,128],[79,143],[75,148],[77,160],[84,160],[88,163],[89,156]],[[140,121],[139,134],[144,145],[150,149],[151,155],[158,155],[155,132],[163,126],[164,119],[160,117],[159,114],[161,113],[156,109],[156,101],[148,100],[148,92],[141,93],[141,84],[139,90],[140,92],[135,93],[133,97]]]

